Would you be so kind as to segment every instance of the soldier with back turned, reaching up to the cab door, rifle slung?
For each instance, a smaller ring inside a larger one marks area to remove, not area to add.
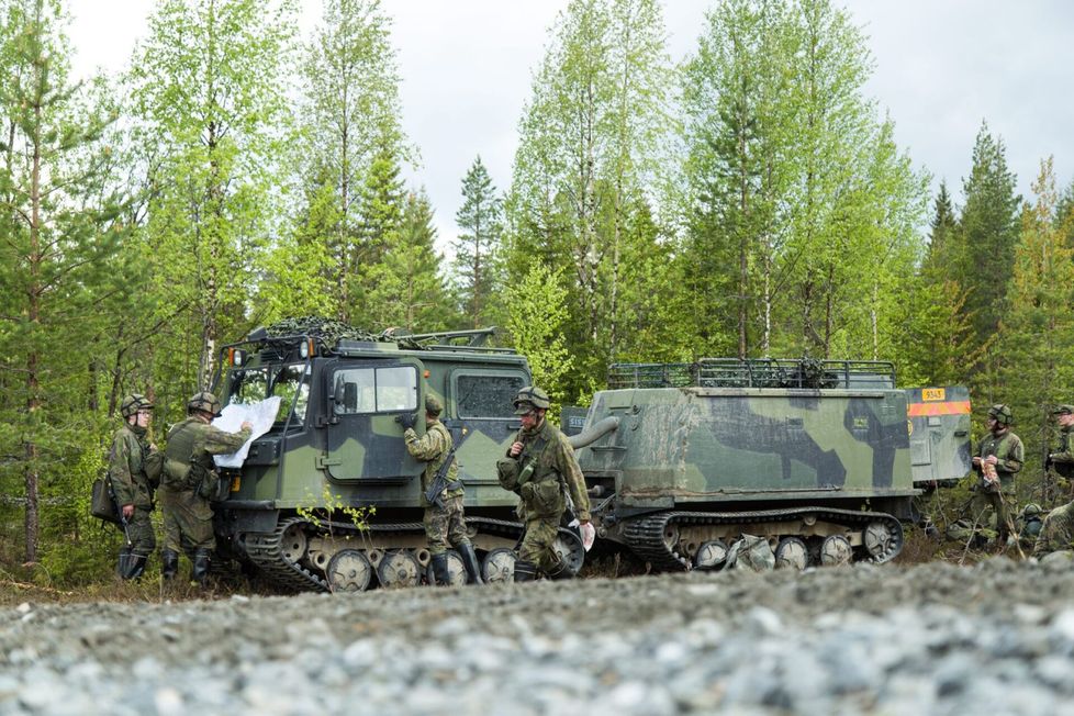
[[[459,480],[459,466],[450,455],[451,434],[440,422],[444,405],[435,395],[425,399],[425,435],[417,437],[414,423],[416,413],[400,416],[400,423],[406,428],[403,439],[406,440],[406,451],[414,458],[425,462],[422,472],[422,502],[425,504],[425,536],[428,538],[429,552],[433,555],[433,578],[437,584],[450,584],[448,574],[447,550],[455,547],[462,563],[466,566],[467,584],[483,584],[481,571],[478,568],[478,556],[466,532],[466,515],[462,512],[462,482]],[[426,499],[426,492],[444,461],[451,458],[447,470],[447,486],[440,493],[443,506]]]

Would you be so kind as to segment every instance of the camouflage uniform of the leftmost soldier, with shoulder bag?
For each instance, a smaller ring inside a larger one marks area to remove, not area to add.
[[[146,441],[146,433],[144,427],[124,424],[115,432],[109,451],[108,474],[115,491],[115,502],[120,508],[134,505],[134,514],[126,523],[126,536],[131,540],[130,553],[137,558],[132,562],[132,570],[137,573],[123,574],[122,566],[120,570],[121,577],[128,579],[142,574],[146,560],[157,546],[149,518],[156,484],[146,473],[146,465],[156,450]],[[120,529],[123,529],[122,525]]]

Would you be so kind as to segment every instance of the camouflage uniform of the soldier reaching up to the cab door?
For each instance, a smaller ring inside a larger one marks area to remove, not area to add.
[[[470,538],[467,536],[462,513],[462,483],[459,482],[459,466],[454,459],[448,468],[447,481],[458,486],[443,492],[443,507],[429,504],[425,499],[425,491],[429,489],[437,470],[451,451],[451,434],[437,421],[428,426],[422,437],[417,437],[414,428],[406,428],[403,439],[406,440],[406,451],[425,462],[425,471],[422,473],[422,504],[425,505],[425,535],[429,540],[429,552],[443,555],[452,545],[469,545]]]

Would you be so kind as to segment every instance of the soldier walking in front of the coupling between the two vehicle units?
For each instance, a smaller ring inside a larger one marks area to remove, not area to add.
[[[568,577],[570,569],[552,545],[567,511],[568,493],[578,511],[583,544],[586,548],[593,544],[585,479],[567,436],[545,419],[548,393],[532,385],[523,388],[514,406],[522,429],[496,469],[500,484],[517,493],[525,510],[526,532],[515,560],[515,581],[530,582],[537,570],[551,579]]]

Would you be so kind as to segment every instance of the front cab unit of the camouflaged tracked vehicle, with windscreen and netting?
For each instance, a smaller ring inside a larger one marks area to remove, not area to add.
[[[424,463],[407,454],[395,418],[418,411],[432,392],[445,405],[441,421],[457,446],[483,577],[510,579],[523,525],[495,462],[521,426],[512,400],[533,379],[523,356],[489,345],[492,333],[394,337],[304,318],[225,346],[216,385],[224,405],[281,402],[242,468],[222,471],[214,503],[219,551],[295,590],[419,583],[429,562]],[[424,425],[419,419],[418,434]],[[581,568],[575,530],[562,529],[557,549],[573,571]],[[465,582],[461,560],[449,556],[452,581]]]

